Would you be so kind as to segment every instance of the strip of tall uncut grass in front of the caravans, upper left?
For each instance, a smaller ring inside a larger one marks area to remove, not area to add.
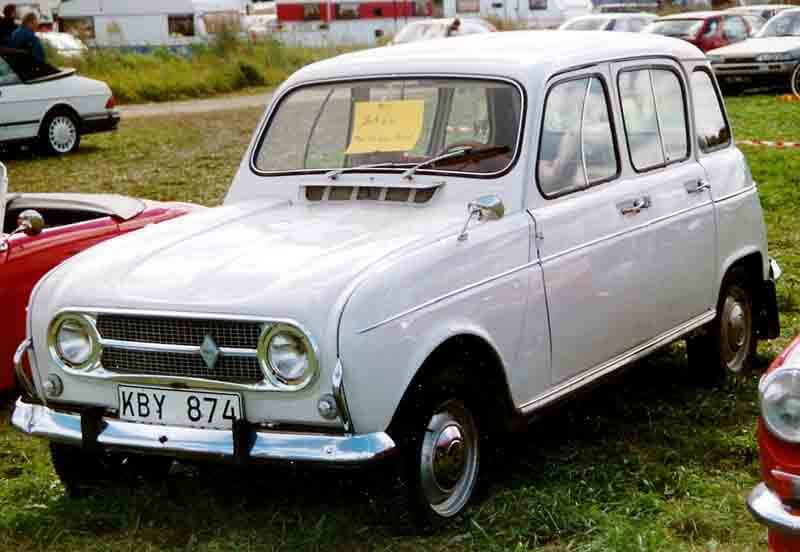
[[[152,54],[91,50],[80,60],[59,59],[78,73],[108,83],[121,103],[204,98],[252,88],[276,86],[303,65],[343,52],[342,48],[284,46],[276,40],[221,39],[193,46],[191,56],[167,50]]]

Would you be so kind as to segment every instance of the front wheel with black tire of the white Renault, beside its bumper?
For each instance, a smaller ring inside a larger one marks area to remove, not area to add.
[[[462,374],[462,370],[450,373]],[[485,435],[478,401],[467,386],[428,380],[392,435],[402,454],[401,486],[415,529],[435,530],[457,518],[473,498]]]

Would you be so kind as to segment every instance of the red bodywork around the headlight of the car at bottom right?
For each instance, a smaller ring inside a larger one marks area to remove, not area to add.
[[[775,359],[767,373],[777,370],[787,360],[792,359],[794,365],[800,364],[800,336]],[[787,473],[800,476],[800,444],[788,443],[778,439],[766,427],[764,420],[758,421],[758,448],[761,456],[761,475],[769,489],[778,495],[784,503],[784,508],[793,515],[800,517],[800,507],[792,504],[794,496],[791,482],[776,477],[776,473]],[[770,552],[797,552],[800,551],[800,536],[792,536],[777,530],[769,530]]]

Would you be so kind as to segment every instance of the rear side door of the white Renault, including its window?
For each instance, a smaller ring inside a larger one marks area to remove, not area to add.
[[[703,167],[693,147],[688,86],[668,59],[613,66],[628,156],[647,197],[640,252],[646,274],[643,321],[663,336],[714,307],[716,225]]]

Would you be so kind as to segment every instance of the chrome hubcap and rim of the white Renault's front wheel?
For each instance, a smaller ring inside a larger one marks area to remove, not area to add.
[[[447,402],[431,417],[420,460],[422,491],[431,508],[442,517],[455,516],[478,475],[478,431],[462,403]]]

